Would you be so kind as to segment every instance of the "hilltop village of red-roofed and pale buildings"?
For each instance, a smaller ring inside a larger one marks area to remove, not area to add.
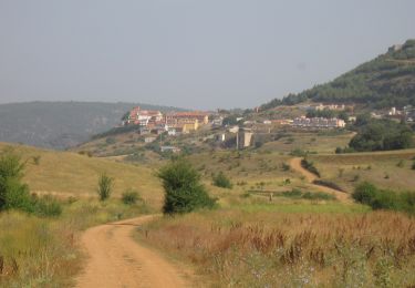
[[[414,109],[405,106],[403,111],[398,111],[391,107],[372,112],[372,117],[412,122]],[[273,141],[281,131],[342,131],[355,121],[353,104],[311,103],[294,107],[279,106],[266,113],[259,107],[237,112],[218,110],[163,113],[135,106],[123,117],[122,127],[134,130],[144,144],[155,152],[178,153],[186,143],[195,145],[196,136],[216,148],[243,150]],[[176,141],[170,141],[174,138]],[[190,142],[186,142],[189,138]]]

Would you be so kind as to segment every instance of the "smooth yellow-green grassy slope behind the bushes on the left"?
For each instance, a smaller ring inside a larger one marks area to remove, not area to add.
[[[127,188],[134,188],[149,205],[160,205],[162,188],[149,168],[70,152],[0,143],[0,151],[8,147],[12,147],[23,160],[28,160],[24,182],[32,192],[95,197],[98,175],[106,172],[115,179],[115,196],[120,196]],[[40,156],[39,165],[33,162],[33,157],[37,156]]]

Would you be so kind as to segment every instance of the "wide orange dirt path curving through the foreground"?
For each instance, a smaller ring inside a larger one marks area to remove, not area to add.
[[[76,287],[188,287],[184,271],[132,238],[134,229],[156,216],[93,227],[82,244],[90,258]]]

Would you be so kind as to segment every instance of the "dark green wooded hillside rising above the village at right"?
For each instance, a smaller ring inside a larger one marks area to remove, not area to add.
[[[383,109],[415,105],[415,40],[394,45],[385,54],[359,65],[335,80],[299,94],[274,99],[262,110],[313,102],[356,103]]]

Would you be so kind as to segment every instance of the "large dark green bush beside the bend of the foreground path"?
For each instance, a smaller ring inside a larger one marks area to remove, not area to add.
[[[198,208],[212,208],[216,199],[209,197],[200,183],[200,174],[185,160],[172,160],[157,176],[163,182],[164,214],[189,213]]]

